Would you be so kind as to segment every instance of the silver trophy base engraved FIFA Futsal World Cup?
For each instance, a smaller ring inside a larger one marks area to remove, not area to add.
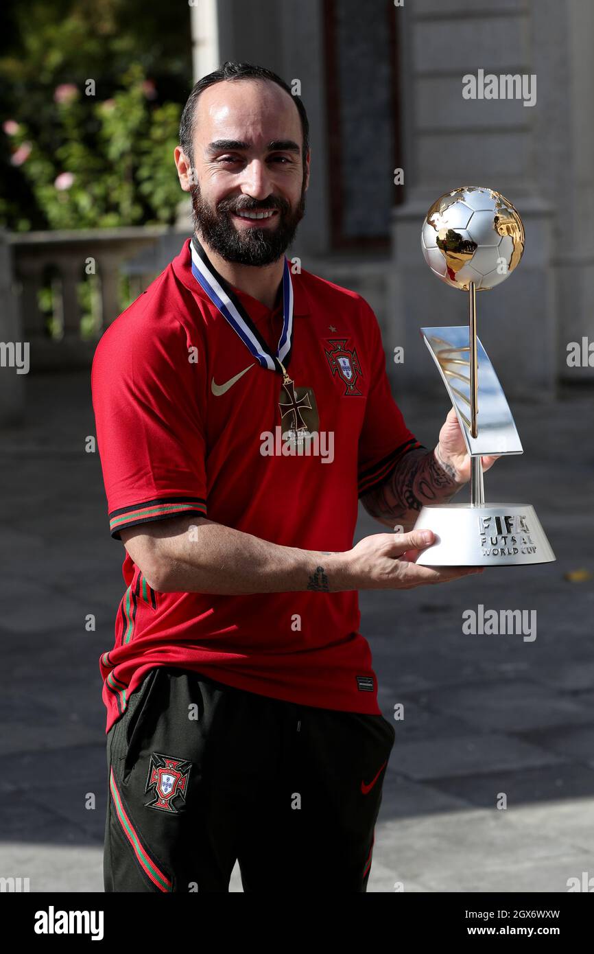
[[[530,504],[430,505],[421,508],[414,529],[436,536],[419,555],[421,567],[517,567],[556,559]]]

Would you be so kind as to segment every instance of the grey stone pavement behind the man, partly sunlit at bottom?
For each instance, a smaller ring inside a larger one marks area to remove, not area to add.
[[[88,374],[31,375],[27,395],[27,424],[0,432],[0,876],[29,877],[31,891],[101,892],[98,657],[113,641],[123,550],[109,536],[98,455],[85,453]],[[400,406],[432,446],[445,397]],[[524,454],[485,475],[486,496],[532,503],[557,562],[360,597],[383,714],[399,704],[404,714],[369,891],[558,892],[594,876],[594,400],[513,411]],[[358,538],[381,531],[361,513]],[[564,578],[579,569],[590,578]],[[536,639],[462,633],[463,610],[479,604],[536,610]],[[237,866],[231,890],[241,891]]]

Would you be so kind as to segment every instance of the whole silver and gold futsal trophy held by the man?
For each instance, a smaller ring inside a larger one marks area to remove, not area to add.
[[[515,567],[550,563],[555,554],[530,504],[485,504],[481,456],[522,454],[502,385],[477,337],[477,291],[505,280],[522,258],[522,219],[499,192],[462,186],[429,209],[421,248],[434,275],[468,293],[468,325],[420,328],[456,410],[471,458],[470,504],[429,505],[415,529],[435,543],[426,567]]]

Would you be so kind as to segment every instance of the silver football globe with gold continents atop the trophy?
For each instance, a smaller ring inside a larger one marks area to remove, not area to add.
[[[522,259],[522,218],[501,193],[465,185],[438,198],[420,233],[434,275],[454,288],[495,288]]]

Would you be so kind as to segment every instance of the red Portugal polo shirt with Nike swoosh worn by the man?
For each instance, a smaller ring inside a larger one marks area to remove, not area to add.
[[[274,446],[280,426],[281,378],[256,363],[199,286],[189,240],[107,329],[92,363],[92,403],[113,538],[186,514],[288,547],[351,549],[358,496],[420,444],[392,398],[367,302],[306,271],[292,280],[288,370],[314,389],[322,453],[261,452],[265,432]],[[236,294],[276,350],[281,306]],[[379,715],[357,591],[155,592],[127,553],[123,575],[114,646],[100,659],[106,731],[154,666]]]

